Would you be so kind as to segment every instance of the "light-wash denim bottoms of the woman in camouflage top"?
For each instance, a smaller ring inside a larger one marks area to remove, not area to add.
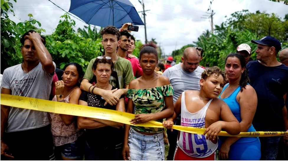
[[[154,135],[144,135],[130,128],[128,145],[130,160],[165,159],[163,132]]]

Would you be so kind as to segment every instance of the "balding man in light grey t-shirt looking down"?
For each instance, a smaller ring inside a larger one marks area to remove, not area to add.
[[[198,51],[193,47],[188,47],[183,52],[181,57],[182,63],[177,64],[168,70],[163,75],[168,77],[174,89],[173,102],[177,101],[179,96],[185,90],[200,90],[199,81],[204,69],[199,67],[200,56]],[[175,125],[180,125],[180,116],[174,120]],[[171,132],[167,130],[169,140],[169,152],[167,160],[173,160],[178,131]]]

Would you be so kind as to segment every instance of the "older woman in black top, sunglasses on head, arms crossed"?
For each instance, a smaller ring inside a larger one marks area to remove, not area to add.
[[[84,106],[100,107],[104,109],[125,112],[124,95],[116,105],[104,105],[105,100],[92,91],[98,87],[106,91],[113,91],[116,87],[109,84],[109,78],[113,71],[113,62],[109,56],[98,56],[93,63],[93,73],[96,76],[95,86],[91,86],[89,92],[83,91],[79,104]],[[85,160],[123,160],[123,124],[109,120],[89,117],[78,117],[78,128],[85,129]]]

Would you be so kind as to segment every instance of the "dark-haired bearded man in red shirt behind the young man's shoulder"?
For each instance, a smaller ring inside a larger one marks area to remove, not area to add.
[[[125,58],[131,62],[133,74],[136,78],[139,78],[140,76],[142,76],[142,73],[143,73],[142,68],[139,64],[139,60],[135,57],[134,58],[128,57],[127,51],[129,50],[129,47],[131,46],[130,41],[131,41],[131,35],[129,34],[129,32],[127,30],[120,32],[120,38],[118,41],[118,47],[119,48],[117,51],[117,55],[122,57],[122,58]],[[135,42],[135,40],[133,40],[133,41]]]

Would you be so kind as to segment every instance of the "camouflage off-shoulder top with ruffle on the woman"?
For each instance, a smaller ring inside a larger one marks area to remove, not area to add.
[[[133,100],[135,114],[151,114],[161,112],[164,109],[164,96],[173,96],[174,91],[171,84],[149,89],[129,89],[127,97]],[[156,120],[163,122],[163,119]],[[131,126],[140,132],[160,133],[164,128]]]

